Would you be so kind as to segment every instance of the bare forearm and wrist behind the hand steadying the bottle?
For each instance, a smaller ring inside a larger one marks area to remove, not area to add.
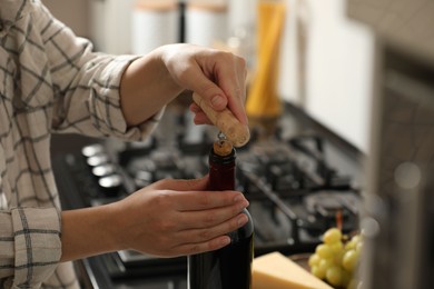
[[[121,249],[116,240],[115,206],[62,212],[62,256],[60,261],[77,260]]]

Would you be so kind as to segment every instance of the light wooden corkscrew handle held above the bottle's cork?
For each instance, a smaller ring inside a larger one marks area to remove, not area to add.
[[[226,108],[221,111],[216,111],[196,92],[193,93],[193,100],[201,108],[205,114],[207,114],[213,124],[225,133],[227,140],[229,140],[234,147],[239,148],[248,142],[250,139],[248,126],[241,123],[229,109]]]

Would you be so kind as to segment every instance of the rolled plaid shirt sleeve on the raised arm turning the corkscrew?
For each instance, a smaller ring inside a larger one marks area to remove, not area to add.
[[[140,126],[128,128],[120,108],[122,72],[138,57],[92,52],[87,39],[76,37],[43,7],[38,22],[53,84],[52,128],[128,140],[149,134],[162,110]]]

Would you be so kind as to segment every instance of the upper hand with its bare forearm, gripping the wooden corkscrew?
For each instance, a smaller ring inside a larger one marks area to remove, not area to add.
[[[228,108],[247,124],[246,62],[230,52],[193,44],[169,44],[135,60],[120,82],[120,106],[128,126],[144,122],[184,90],[197,92],[215,110]],[[210,123],[196,104],[195,122]]]

